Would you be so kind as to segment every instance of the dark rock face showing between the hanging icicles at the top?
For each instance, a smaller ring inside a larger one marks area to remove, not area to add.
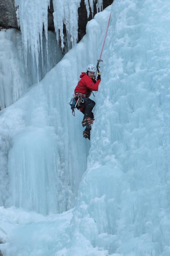
[[[113,0],[104,0],[103,9],[112,4]],[[48,8],[48,30],[54,31],[53,22],[53,4],[50,0],[50,8]],[[94,4],[94,15],[96,14],[96,4]],[[86,25],[88,20],[92,19],[92,13],[90,12],[89,18],[87,18],[86,6],[84,0],[81,0],[80,7],[78,8],[78,41],[86,34]],[[3,28],[18,28],[17,18],[15,12],[14,0],[0,0],[0,27]],[[66,33],[66,31],[64,31]]]

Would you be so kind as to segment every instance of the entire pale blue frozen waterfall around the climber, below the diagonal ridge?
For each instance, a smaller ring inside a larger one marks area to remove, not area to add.
[[[89,142],[67,103],[98,59],[111,8]],[[4,255],[169,256],[169,13],[167,0],[114,1],[1,111]]]

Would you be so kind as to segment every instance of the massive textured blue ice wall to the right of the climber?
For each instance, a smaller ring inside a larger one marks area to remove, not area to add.
[[[170,254],[169,14],[169,1],[113,4],[66,255]]]

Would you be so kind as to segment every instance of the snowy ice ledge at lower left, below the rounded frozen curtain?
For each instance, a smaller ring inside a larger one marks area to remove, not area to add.
[[[3,255],[55,255],[56,251],[63,249],[69,242],[68,227],[71,218],[72,210],[44,217],[15,207],[0,207]]]

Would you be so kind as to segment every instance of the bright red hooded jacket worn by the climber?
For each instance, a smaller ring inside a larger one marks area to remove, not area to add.
[[[75,94],[80,92],[86,94],[86,97],[89,97],[92,91],[98,91],[101,79],[98,79],[96,83],[94,83],[94,81],[85,72],[81,73],[80,78],[81,79],[74,90]]]

